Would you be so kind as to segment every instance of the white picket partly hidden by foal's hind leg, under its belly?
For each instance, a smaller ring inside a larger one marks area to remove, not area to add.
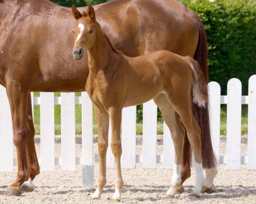
[[[171,132],[169,127],[163,122],[163,168],[173,169],[174,164],[174,144],[172,141]]]

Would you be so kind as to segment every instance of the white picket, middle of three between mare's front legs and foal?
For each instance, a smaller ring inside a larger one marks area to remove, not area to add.
[[[61,170],[76,170],[75,93],[61,93]]]

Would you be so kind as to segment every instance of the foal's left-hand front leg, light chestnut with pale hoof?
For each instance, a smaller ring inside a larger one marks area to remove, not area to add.
[[[99,180],[96,191],[93,193],[93,199],[99,199],[102,190],[107,183],[106,178],[106,154],[108,149],[108,127],[109,116],[104,107],[94,106],[94,113],[98,126],[98,150],[99,150]]]

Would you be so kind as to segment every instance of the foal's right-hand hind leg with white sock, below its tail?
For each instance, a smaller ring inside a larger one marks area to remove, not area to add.
[[[179,114],[180,119],[186,128],[189,143],[192,146],[195,157],[196,182],[192,195],[199,197],[204,184],[204,173],[201,159],[201,129],[191,111],[190,95],[182,95],[176,91],[166,93],[168,101],[172,104],[175,111]]]

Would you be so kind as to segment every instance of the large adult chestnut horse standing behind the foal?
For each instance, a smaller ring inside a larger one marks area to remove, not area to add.
[[[175,0],[116,0],[94,6],[102,31],[113,46],[129,57],[169,50],[194,57],[208,78],[207,41],[199,17]],[[83,11],[86,8],[79,8]],[[18,173],[6,190],[20,195],[34,189],[39,174],[35,152],[30,91],[84,91],[89,74],[87,57],[73,59],[70,8],[49,0],[0,0],[0,84],[9,98]],[[215,157],[208,111],[193,106],[201,129],[204,191],[215,190]],[[185,136],[184,152],[190,153]],[[190,176],[190,154],[183,157],[181,184]],[[180,190],[182,187],[180,186]]]

